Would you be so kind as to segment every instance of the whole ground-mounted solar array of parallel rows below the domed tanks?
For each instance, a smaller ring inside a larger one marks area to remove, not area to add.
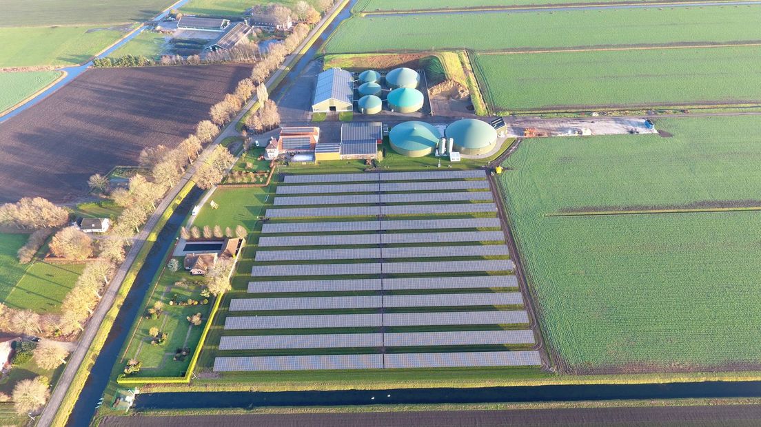
[[[524,299],[514,292],[514,263],[485,171],[300,175],[285,184],[266,212],[275,220],[263,224],[251,297],[230,301],[215,372],[541,364],[537,351],[461,351],[535,341],[528,313],[510,309]],[[467,213],[492,217],[441,217]],[[393,215],[428,219],[277,220]],[[406,353],[384,350],[393,347]],[[361,348],[372,354],[355,354]],[[301,355],[326,351],[346,354]]]

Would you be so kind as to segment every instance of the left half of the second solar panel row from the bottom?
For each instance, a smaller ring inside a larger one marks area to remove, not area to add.
[[[336,349],[382,345],[383,334],[248,335],[221,337],[219,350]]]

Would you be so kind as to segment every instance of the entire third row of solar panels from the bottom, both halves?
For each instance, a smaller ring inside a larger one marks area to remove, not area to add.
[[[527,324],[522,310],[506,312],[371,313],[363,315],[228,316],[224,329],[293,329],[314,327],[450,326]]]

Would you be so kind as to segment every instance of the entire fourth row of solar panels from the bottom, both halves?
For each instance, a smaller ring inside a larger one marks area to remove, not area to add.
[[[522,305],[519,292],[439,293],[425,295],[298,296],[290,298],[236,298],[231,312],[271,310],[332,310],[337,308],[409,308]]]

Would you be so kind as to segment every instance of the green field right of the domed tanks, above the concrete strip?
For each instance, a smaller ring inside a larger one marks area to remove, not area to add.
[[[759,46],[476,55],[492,111],[759,104]]]

